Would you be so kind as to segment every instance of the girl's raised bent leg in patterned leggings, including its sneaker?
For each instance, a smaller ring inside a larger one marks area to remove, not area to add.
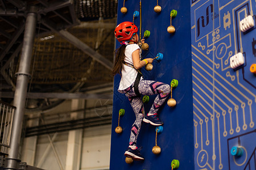
[[[161,82],[152,81],[152,80],[141,80],[141,82],[139,82],[139,92],[142,95],[158,94],[155,97],[154,103],[152,104],[152,107],[150,108],[150,111],[147,114],[147,116],[151,116],[152,120],[149,118],[150,119],[149,121],[147,120],[143,120],[143,121],[150,123],[152,125],[163,124],[163,122],[160,121],[159,118],[156,116],[159,108],[164,104],[164,101],[166,101],[167,97],[170,95],[170,92],[171,92],[170,85],[161,83]]]

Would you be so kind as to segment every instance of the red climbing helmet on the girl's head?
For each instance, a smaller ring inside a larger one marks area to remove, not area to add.
[[[119,42],[130,40],[137,31],[138,27],[134,23],[123,22],[115,28],[115,37]]]

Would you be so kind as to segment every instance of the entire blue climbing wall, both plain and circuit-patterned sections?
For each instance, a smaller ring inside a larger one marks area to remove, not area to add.
[[[115,76],[110,169],[171,169],[172,159],[178,159],[179,169],[186,170],[256,169],[256,74],[250,71],[256,64],[256,29],[240,29],[240,21],[249,15],[255,24],[255,0],[159,1],[159,14],[153,10],[155,5],[156,1],[142,1],[142,35],[145,30],[151,32],[146,39],[150,48],[143,51],[143,58],[154,58],[159,52],[164,58],[143,74],[164,83],[179,80],[172,94],[177,105],[169,108],[166,104],[159,112],[164,121],[163,132],[158,134],[161,154],[151,151],[155,128],[143,124],[138,146],[143,147],[145,160],[126,164],[123,153],[135,116],[127,98],[118,94],[120,76]],[[117,23],[132,22],[139,1],[125,1],[126,14],[120,12],[122,6],[119,1]],[[177,10],[172,19],[174,35],[167,32],[172,9]],[[139,18],[134,23],[139,26]],[[230,58],[239,53],[245,63],[232,69]],[[144,104],[146,112],[154,97]],[[125,109],[122,134],[114,131],[119,109]],[[242,148],[242,156],[231,154],[233,146]]]

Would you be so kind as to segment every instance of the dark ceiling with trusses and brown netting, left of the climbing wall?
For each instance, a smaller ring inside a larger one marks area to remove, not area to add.
[[[49,109],[65,99],[112,97],[117,1],[0,0],[0,99],[13,100],[31,6],[38,9],[38,23],[27,111]]]

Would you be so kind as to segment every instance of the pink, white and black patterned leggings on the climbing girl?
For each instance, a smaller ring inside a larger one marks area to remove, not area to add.
[[[134,92],[134,87],[131,86],[124,90],[126,92],[126,96],[128,97],[131,107],[133,108],[133,111],[136,116],[136,120],[131,127],[131,135],[130,135],[130,146],[136,146],[137,145],[137,137],[139,134],[139,131],[141,130],[141,124],[143,120],[143,114],[144,114],[144,107],[141,97],[136,97],[136,94]],[[142,79],[139,82],[139,93],[142,95],[155,95],[158,94],[155,97],[154,103],[152,104],[152,107],[150,111],[148,112],[148,116],[152,114],[157,114],[159,108],[161,105],[163,105],[164,101],[166,101],[168,95],[171,92],[171,87],[168,84],[164,84],[161,82],[156,82],[152,80],[144,80]]]

